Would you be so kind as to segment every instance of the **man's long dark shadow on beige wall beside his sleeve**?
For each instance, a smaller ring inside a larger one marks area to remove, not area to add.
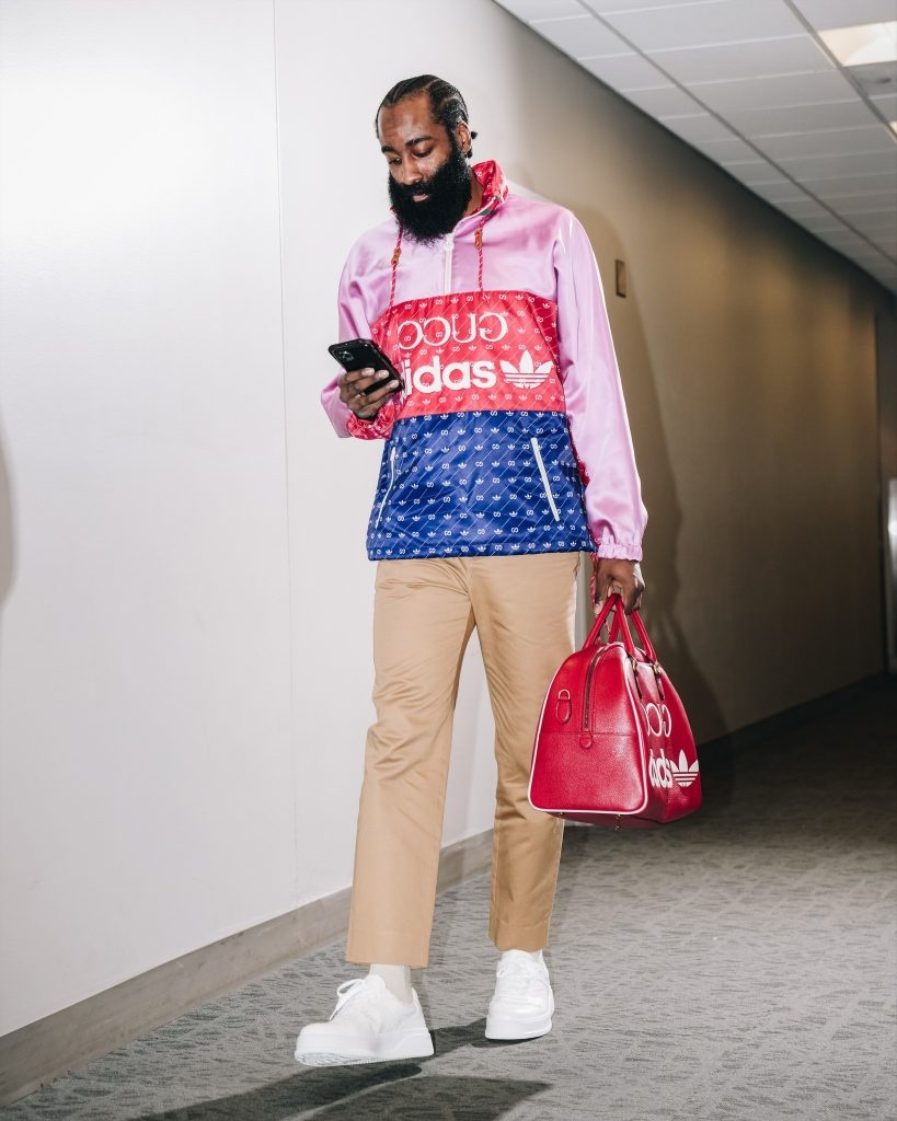
[[[576,216],[585,226],[593,244],[609,245],[614,258],[627,260],[627,253],[617,231],[598,211],[577,209]],[[602,275],[604,297],[609,308],[614,295],[612,278]],[[618,352],[627,391],[627,409],[636,445],[642,495],[648,508],[648,528],[645,536],[644,574],[646,583],[642,612],[657,655],[679,693],[688,713],[695,739],[700,743],[727,731],[724,717],[709,682],[688,648],[688,638],[677,615],[676,601],[681,589],[677,565],[677,546],[682,529],[682,507],[676,491],[676,480],[669,458],[657,381],[649,358],[645,328],[638,309],[636,285],[629,284],[630,324],[625,356]],[[720,766],[715,760],[711,789],[705,798],[715,805],[725,805],[731,798],[731,765]]]

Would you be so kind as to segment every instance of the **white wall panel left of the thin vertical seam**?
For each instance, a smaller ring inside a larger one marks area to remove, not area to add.
[[[299,873],[270,6],[0,11],[4,1031]]]

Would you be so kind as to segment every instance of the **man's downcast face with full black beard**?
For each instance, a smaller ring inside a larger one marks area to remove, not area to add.
[[[451,232],[470,202],[465,127],[446,132],[433,120],[428,95],[419,93],[381,109],[377,132],[389,165],[389,198],[408,234],[429,242]]]

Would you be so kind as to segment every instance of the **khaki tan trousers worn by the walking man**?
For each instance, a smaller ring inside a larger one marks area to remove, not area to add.
[[[377,720],[368,732],[346,960],[429,957],[452,720],[475,627],[496,720],[489,934],[547,945],[564,823],[527,800],[545,692],[573,650],[579,554],[381,560],[373,621]]]

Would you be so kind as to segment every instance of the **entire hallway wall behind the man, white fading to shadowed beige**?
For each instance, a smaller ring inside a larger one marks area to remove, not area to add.
[[[627,257],[649,603],[699,731],[876,670],[873,596],[820,639],[844,511],[876,572],[881,296],[841,258],[490,0],[0,20],[0,1032],[350,881],[378,450],[317,393],[342,259],[385,211],[373,113],[410,73],[459,84],[478,158],[573,206],[605,277]],[[796,674],[738,633],[786,606]],[[491,818],[473,655],[446,841]]]

